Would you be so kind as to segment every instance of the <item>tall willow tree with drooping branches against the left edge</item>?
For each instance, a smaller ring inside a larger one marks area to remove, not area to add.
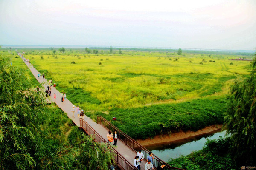
[[[37,114],[44,114],[44,98],[24,75],[0,57],[0,169],[35,167],[33,155],[40,147]]]

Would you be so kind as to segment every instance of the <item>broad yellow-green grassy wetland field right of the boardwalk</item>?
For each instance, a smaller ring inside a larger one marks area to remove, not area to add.
[[[112,123],[134,139],[222,124],[230,85],[250,72],[250,62],[230,59],[251,58],[214,51],[18,51],[87,116],[96,120],[102,115],[110,121],[116,116]],[[11,57],[13,65],[26,67],[14,51],[2,55]]]

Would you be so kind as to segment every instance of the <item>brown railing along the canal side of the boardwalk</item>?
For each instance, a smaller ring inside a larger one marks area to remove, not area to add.
[[[108,120],[106,120],[105,118],[103,118],[102,116],[97,116],[97,123],[102,124],[104,127],[106,127],[108,130],[110,130],[112,133],[114,133],[115,131],[117,132],[118,138],[120,140],[122,140],[123,142],[125,142],[126,145],[128,145],[129,147],[131,147],[132,150],[134,151],[138,151],[141,150],[141,152],[144,154],[145,159],[148,157],[149,155],[149,150],[147,150],[145,147],[143,147],[141,144],[139,144],[137,141],[135,141],[134,139],[132,139],[130,136],[128,136],[127,134],[125,134],[124,132],[122,132],[121,130],[119,130],[117,127],[115,127],[114,125],[111,124],[111,122],[109,122]],[[152,164],[154,165],[154,167],[158,167],[159,165],[161,165],[162,163],[165,163],[163,160],[159,159],[157,156],[154,156],[154,159],[152,160]],[[166,164],[166,163],[165,163]],[[177,167],[171,167],[168,164],[166,164],[166,169],[168,170],[183,170],[181,168],[177,168]]]

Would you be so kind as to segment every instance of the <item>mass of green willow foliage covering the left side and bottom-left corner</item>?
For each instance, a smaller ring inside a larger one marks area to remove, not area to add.
[[[107,170],[113,159],[107,144],[88,136],[78,146],[57,143],[42,130],[51,116],[44,99],[23,71],[0,57],[0,170]]]

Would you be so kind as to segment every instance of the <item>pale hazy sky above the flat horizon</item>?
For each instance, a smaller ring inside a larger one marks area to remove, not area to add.
[[[256,47],[256,0],[0,0],[0,45]]]

